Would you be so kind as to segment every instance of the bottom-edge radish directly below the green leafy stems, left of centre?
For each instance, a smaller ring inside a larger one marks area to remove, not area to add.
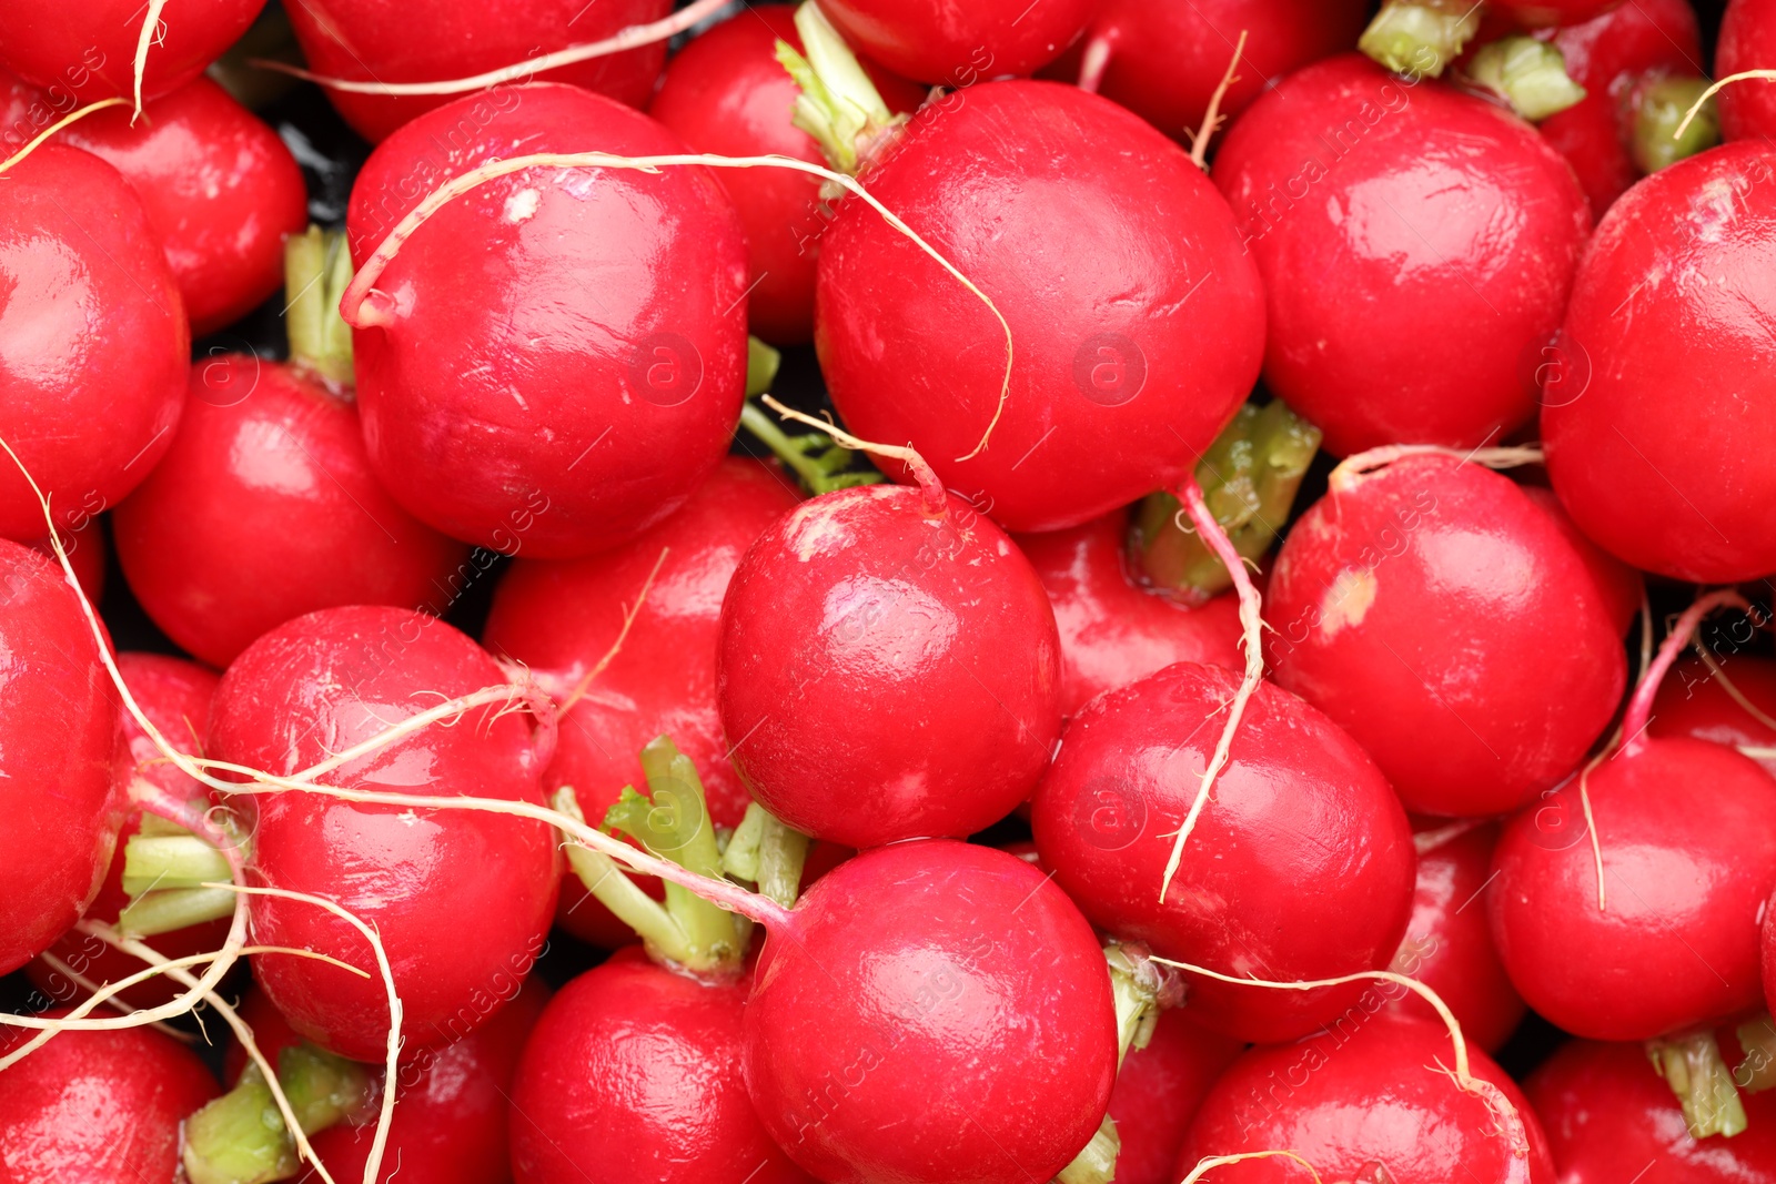
[[[549,1003],[511,1088],[517,1184],[803,1184],[741,1069],[746,983],[702,983],[630,948]]]

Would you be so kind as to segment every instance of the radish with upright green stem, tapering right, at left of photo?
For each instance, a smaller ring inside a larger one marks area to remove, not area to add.
[[[442,612],[469,554],[382,490],[348,398],[236,353],[192,367],[172,447],[112,520],[137,600],[211,666],[316,609]]]

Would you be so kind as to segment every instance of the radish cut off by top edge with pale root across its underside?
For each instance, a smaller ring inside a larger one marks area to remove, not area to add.
[[[591,5],[584,0],[490,0],[416,21],[410,9],[382,0],[329,0],[325,9],[293,4],[288,12],[302,55],[318,75],[357,82],[449,82],[572,44],[604,41],[630,25],[661,20],[671,7],[671,0],[602,0]],[[655,41],[551,69],[531,82],[570,82],[641,107],[654,92],[664,60],[666,43]],[[359,135],[378,142],[424,112],[451,103],[453,96],[327,91],[327,98]],[[469,94],[458,103],[467,126],[478,130],[490,112],[506,110],[511,98],[511,91],[501,87],[492,94]],[[455,130],[460,124],[453,119],[446,126]]]

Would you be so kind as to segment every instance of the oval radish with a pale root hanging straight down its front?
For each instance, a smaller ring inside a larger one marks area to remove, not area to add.
[[[1179,662],[1074,715],[1032,799],[1043,863],[1094,925],[1163,957],[1275,980],[1384,966],[1412,911],[1407,815],[1348,735],[1270,683],[1160,898],[1238,685],[1233,671]],[[1302,1037],[1364,991],[1188,982],[1192,1017],[1243,1040]]]

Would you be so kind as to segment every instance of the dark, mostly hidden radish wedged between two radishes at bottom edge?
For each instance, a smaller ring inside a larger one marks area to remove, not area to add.
[[[1199,1028],[1188,1010],[1162,1012],[1144,1049],[1130,1049],[1110,1092],[1122,1147],[1115,1184],[1176,1184],[1172,1163],[1215,1079],[1243,1047]]]

